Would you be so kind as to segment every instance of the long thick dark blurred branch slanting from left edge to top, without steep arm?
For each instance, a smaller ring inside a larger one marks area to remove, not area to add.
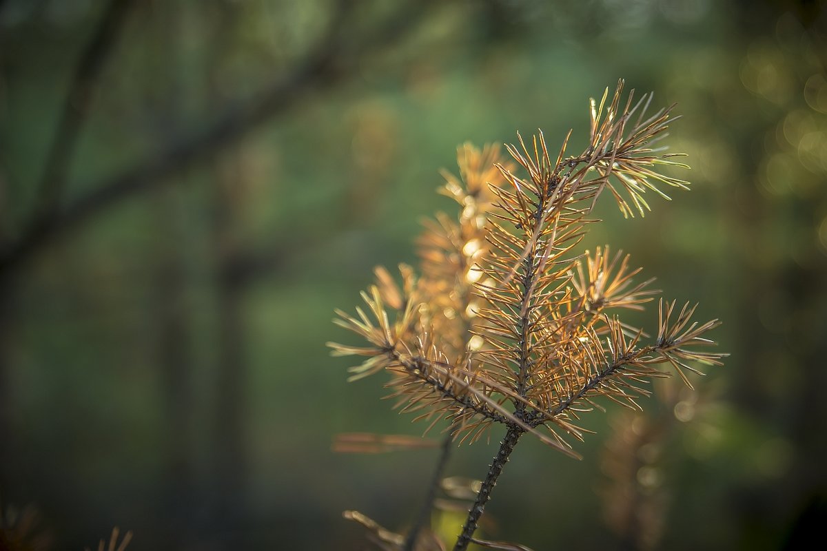
[[[326,35],[289,74],[276,79],[256,97],[227,107],[203,131],[149,155],[122,173],[104,178],[92,186],[93,191],[70,202],[41,224],[31,226],[14,244],[0,250],[0,273],[17,268],[42,247],[66,231],[84,225],[112,204],[158,187],[165,178],[212,157],[274,116],[295,107],[311,90],[347,80],[361,61],[414,30],[429,4],[418,0],[407,3],[376,31],[365,33],[358,44],[349,47],[344,39],[353,33],[343,23],[352,9],[348,8],[350,2],[342,0],[339,16],[333,18]]]

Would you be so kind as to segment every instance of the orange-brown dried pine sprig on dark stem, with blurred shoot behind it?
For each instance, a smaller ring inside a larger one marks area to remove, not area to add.
[[[336,323],[368,344],[330,344],[333,354],[366,358],[351,368],[351,380],[390,372],[402,411],[418,412],[430,426],[448,420],[460,441],[506,425],[499,470],[492,464],[472,507],[479,514],[508,460],[503,449],[510,453],[520,435],[576,456],[564,437],[582,439],[576,422],[602,409],[595,400],[638,408],[646,384],[667,376],[664,364],[691,387],[686,372],[700,373],[693,363],[718,365],[724,356],[703,349],[715,344],[702,335],[718,321],[692,321],[695,307],[677,312],[663,300],[657,339],[643,344],[648,335],[619,314],[643,310],[657,294],[653,280],[636,283],[640,268],[608,245],[594,254],[576,250],[606,189],[624,216],[649,210],[648,191],[668,199],[662,188],[688,189],[660,172],[686,165],[652,148],[666,135],[672,107],[647,116],[651,94],[633,103],[633,92],[625,102],[622,92],[620,81],[609,102],[608,88],[599,104],[590,102],[589,142],[580,154],[566,155],[571,131],[554,157],[542,131],[528,143],[518,134],[518,145],[506,145],[514,164],[494,148],[461,149],[462,180],[447,176],[442,189],[461,213],[458,221],[439,215],[426,225],[420,278],[403,266],[398,287],[379,269],[362,293],[366,310],[337,311]],[[455,549],[466,549],[479,514],[469,515]]]

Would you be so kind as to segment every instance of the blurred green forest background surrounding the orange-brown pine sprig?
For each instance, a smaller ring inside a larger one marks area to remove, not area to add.
[[[574,128],[574,151],[625,78],[677,102],[693,191],[634,220],[605,197],[586,245],[700,302],[731,357],[588,416],[580,462],[527,439],[483,532],[795,548],[827,520],[825,23],[819,0],[0,0],[7,534],[34,509],[50,549],[115,525],[130,549],[367,549],[346,509],[405,530],[437,450],[332,452],[424,429],[381,376],[345,382],[332,310],[455,216],[457,145]],[[500,436],[447,473],[485,476]]]

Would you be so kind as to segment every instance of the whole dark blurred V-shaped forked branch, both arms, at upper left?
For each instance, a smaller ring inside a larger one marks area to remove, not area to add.
[[[255,97],[224,107],[222,114],[216,116],[206,130],[166,145],[163,150],[149,155],[122,173],[89,186],[93,191],[75,198],[58,211],[60,189],[64,186],[65,172],[83,121],[83,112],[88,108],[88,88],[91,88],[103,65],[110,41],[114,39],[117,26],[123,20],[127,3],[121,0],[111,3],[98,34],[79,64],[77,76],[67,93],[65,112],[54,145],[45,162],[40,193],[41,207],[36,210],[41,214],[36,214],[36,222],[29,230],[0,251],[0,271],[21,263],[51,240],[65,235],[74,226],[83,224],[112,203],[159,186],[165,182],[165,178],[189,169],[193,164],[232,145],[247,133],[269,122],[272,117],[305,100],[310,90],[329,88],[334,83],[355,75],[358,64],[381,52],[394,40],[403,38],[405,32],[416,29],[418,17],[428,7],[428,2],[407,2],[387,17],[387,21],[382,21],[376,29],[372,29],[366,36],[360,36],[358,42],[353,44],[342,38],[347,36],[345,29],[349,2],[339,0],[332,12],[327,32],[287,74],[277,78]],[[76,102],[79,101],[83,102],[83,107],[77,105]]]

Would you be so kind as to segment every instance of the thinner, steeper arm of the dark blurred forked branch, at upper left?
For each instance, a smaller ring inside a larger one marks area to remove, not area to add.
[[[41,226],[60,206],[69,164],[78,145],[78,136],[84,125],[95,85],[127,21],[127,12],[132,2],[133,0],[109,2],[92,40],[89,41],[74,69],[60,121],[44,161],[43,175],[37,191],[37,204],[32,213],[32,226]]]

